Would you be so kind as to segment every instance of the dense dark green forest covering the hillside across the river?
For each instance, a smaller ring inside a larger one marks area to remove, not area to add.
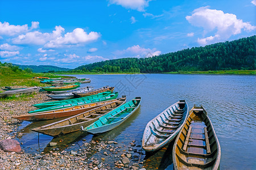
[[[67,72],[167,73],[171,71],[255,70],[256,36],[183,49],[148,58],[111,59]]]

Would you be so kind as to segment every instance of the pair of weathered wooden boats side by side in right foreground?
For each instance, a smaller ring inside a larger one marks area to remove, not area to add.
[[[188,112],[188,104],[180,100],[168,107],[146,125],[142,148],[156,151],[174,139],[174,169],[219,168],[220,143],[203,106]]]

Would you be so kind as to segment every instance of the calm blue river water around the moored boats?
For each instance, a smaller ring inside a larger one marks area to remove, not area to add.
[[[193,104],[205,107],[212,121],[218,140],[221,145],[220,169],[256,169],[256,76],[243,75],[172,75],[172,74],[145,74],[145,75],[72,75],[77,78],[90,78],[89,84],[99,88],[115,86],[119,97],[127,96],[127,100],[135,96],[142,97],[141,108],[117,129],[108,131],[99,136],[76,132],[64,137],[52,138],[38,134],[30,129],[39,125],[24,121],[19,127],[24,135],[19,138],[23,142],[23,149],[27,152],[49,151],[49,142],[65,142],[58,147],[65,150],[77,150],[82,145],[81,139],[117,141],[124,149],[128,149],[131,141],[136,141],[133,163],[145,160],[147,169],[172,169],[172,146],[166,146],[153,154],[145,154],[141,149],[141,139],[148,121],[164,111],[178,100],[185,99],[189,109]],[[48,124],[48,122],[40,122]],[[39,141],[39,143],[38,143]],[[74,144],[72,146],[71,144]],[[124,146],[125,145],[125,146]],[[134,156],[135,155],[135,156]],[[94,158],[104,157],[102,152],[93,154]],[[108,157],[111,166],[113,158]]]

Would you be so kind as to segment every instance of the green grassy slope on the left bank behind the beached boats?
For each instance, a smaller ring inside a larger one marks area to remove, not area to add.
[[[3,86],[44,86],[37,79],[32,79],[34,76],[48,76],[49,78],[60,77],[50,73],[31,73],[30,69],[22,70],[18,66],[13,66],[12,63],[0,62],[0,87]]]

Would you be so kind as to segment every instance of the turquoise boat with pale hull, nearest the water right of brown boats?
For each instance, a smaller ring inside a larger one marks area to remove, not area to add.
[[[141,97],[135,97],[133,100],[115,108],[113,111],[101,116],[96,122],[87,126],[81,126],[82,131],[92,134],[104,133],[106,131],[117,128],[127,120],[141,105]]]

